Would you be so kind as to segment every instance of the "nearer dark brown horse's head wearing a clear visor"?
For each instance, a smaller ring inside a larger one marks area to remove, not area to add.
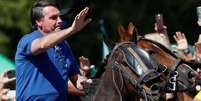
[[[138,48],[134,43],[117,44],[111,52],[108,64],[119,69],[123,77],[133,85],[134,90],[141,90],[140,94],[142,90],[147,90],[147,92],[159,90],[151,88],[162,81],[160,73],[156,70],[156,63],[146,51]],[[157,94],[152,96],[157,96]]]

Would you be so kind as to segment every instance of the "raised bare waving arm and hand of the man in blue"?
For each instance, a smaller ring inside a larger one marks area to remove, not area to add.
[[[40,54],[41,52],[46,51],[50,47],[54,47],[59,42],[65,40],[72,34],[80,31],[82,28],[84,28],[91,19],[85,20],[86,14],[88,12],[89,8],[86,7],[83,9],[74,19],[73,24],[64,30],[50,33],[42,38],[38,38],[34,40],[31,44],[31,51],[34,55]]]

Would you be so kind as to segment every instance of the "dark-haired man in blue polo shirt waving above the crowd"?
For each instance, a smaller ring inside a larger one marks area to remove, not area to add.
[[[33,5],[35,30],[20,39],[15,55],[17,101],[67,101],[68,79],[76,85],[79,67],[65,39],[91,21],[86,19],[88,10],[80,11],[62,30],[56,3],[40,0]]]

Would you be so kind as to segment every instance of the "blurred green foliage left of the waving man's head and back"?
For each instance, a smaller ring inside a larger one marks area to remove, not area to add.
[[[14,59],[19,38],[30,31],[28,10],[34,0],[0,0],[0,53]]]

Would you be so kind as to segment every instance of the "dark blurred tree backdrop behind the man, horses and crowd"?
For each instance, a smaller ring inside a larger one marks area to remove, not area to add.
[[[0,54],[14,66],[17,43],[31,32],[29,12],[36,0],[0,0]],[[68,13],[69,21],[85,6],[91,8],[93,21],[78,34],[67,39],[76,57],[88,57],[92,64],[102,61],[103,33],[117,41],[117,25],[134,23],[140,35],[154,32],[155,15],[163,14],[171,43],[175,31],[185,33],[194,44],[201,28],[197,25],[196,7],[201,0],[56,0]],[[104,23],[103,23],[104,22]],[[101,30],[104,28],[105,30]],[[77,58],[78,59],[78,58]],[[1,61],[1,60],[0,60]],[[0,64],[1,65],[1,64]],[[0,66],[0,68],[2,68]]]

